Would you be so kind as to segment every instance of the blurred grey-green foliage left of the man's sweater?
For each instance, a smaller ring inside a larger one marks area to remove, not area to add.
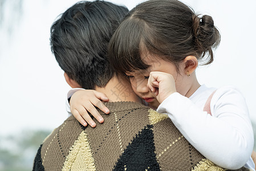
[[[0,170],[32,170],[35,154],[49,134],[50,131],[26,130],[0,136]]]

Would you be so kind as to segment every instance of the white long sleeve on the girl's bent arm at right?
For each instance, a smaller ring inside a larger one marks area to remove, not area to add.
[[[180,93],[166,98],[157,112],[167,113],[186,140],[222,168],[239,169],[251,156],[253,128],[245,99],[237,89],[217,89],[211,100],[213,116]]]

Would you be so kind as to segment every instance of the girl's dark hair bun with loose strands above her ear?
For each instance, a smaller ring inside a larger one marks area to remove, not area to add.
[[[214,26],[213,18],[209,15],[202,15],[193,17],[193,31],[196,42],[197,54],[202,54],[203,58],[206,54],[210,57],[205,64],[213,62],[213,50],[220,44],[220,32]]]

